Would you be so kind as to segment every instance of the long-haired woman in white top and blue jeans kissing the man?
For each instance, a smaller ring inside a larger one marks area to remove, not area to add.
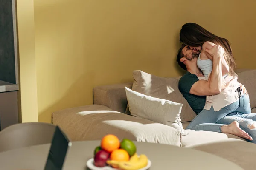
[[[221,93],[206,97],[204,109],[198,113],[186,129],[201,130],[200,126],[203,124],[217,123],[224,116],[233,112],[250,113],[249,95],[245,87],[237,81],[238,76],[234,72],[236,63],[228,40],[210,33],[198,24],[186,23],[180,30],[180,42],[189,45],[192,50],[201,51],[197,65],[206,79],[212,71],[212,57],[207,55],[206,49],[211,49],[213,45],[220,45],[224,48],[221,58],[223,75]]]

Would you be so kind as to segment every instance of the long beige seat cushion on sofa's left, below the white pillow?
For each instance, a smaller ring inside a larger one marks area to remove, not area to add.
[[[173,127],[126,115],[103,105],[87,105],[52,113],[52,122],[73,141],[101,140],[114,134],[120,140],[181,146],[181,133]]]

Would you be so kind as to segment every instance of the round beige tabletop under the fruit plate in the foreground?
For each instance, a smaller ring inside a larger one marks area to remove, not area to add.
[[[165,144],[134,142],[137,153],[144,153],[152,162],[150,170],[242,170],[218,156],[198,150]],[[72,142],[63,170],[87,170],[86,162],[100,141]],[[50,144],[24,147],[0,153],[1,170],[43,170]]]

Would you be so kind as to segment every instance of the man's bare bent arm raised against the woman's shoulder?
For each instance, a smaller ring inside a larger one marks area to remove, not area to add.
[[[208,81],[198,80],[192,85],[189,93],[197,96],[209,96],[219,94],[221,92],[221,56],[224,53],[224,49],[219,45],[214,45],[211,49],[205,49],[205,52],[213,58],[212,73],[210,74]]]

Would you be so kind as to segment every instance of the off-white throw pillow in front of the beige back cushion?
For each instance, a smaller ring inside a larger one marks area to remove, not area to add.
[[[147,96],[125,87],[126,97],[129,104],[131,116],[148,119],[174,127],[183,132],[180,113],[181,103],[165,99]]]

